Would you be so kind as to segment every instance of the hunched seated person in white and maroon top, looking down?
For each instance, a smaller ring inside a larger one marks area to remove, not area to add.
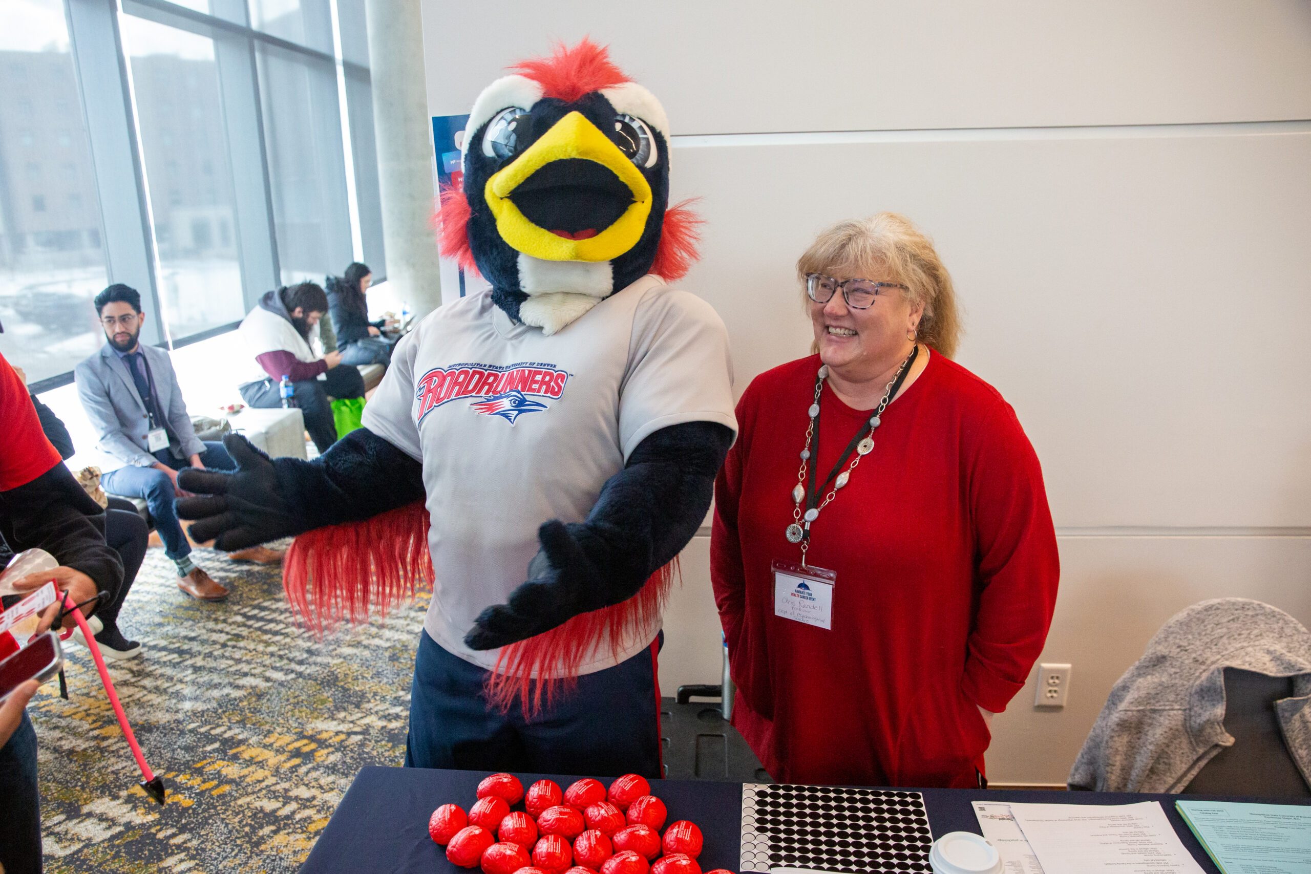
[[[291,380],[292,402],[305,417],[309,438],[326,452],[337,442],[329,397],[364,396],[359,370],[341,363],[341,352],[323,358],[311,346],[311,333],[328,312],[328,296],[312,282],[267,291],[241,321],[241,338],[250,352],[241,397],[254,408],[282,406],[282,377]]]

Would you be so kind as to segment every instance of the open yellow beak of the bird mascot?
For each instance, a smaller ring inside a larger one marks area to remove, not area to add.
[[[552,161],[582,159],[600,164],[628,186],[633,202],[608,228],[586,240],[569,240],[534,224],[510,195],[528,177]],[[556,122],[523,155],[501,168],[482,190],[501,238],[518,252],[545,261],[614,261],[642,236],[652,211],[652,189],[641,170],[582,113]]]

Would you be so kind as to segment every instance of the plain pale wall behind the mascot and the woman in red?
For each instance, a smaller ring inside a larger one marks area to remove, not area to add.
[[[658,9],[658,14],[657,14]],[[729,325],[737,389],[808,351],[792,265],[826,224],[905,212],[966,311],[960,360],[1024,423],[1061,537],[1044,660],[990,776],[1063,782],[1159,625],[1218,595],[1311,625],[1311,4],[1266,0],[511,4],[425,0],[429,109],[590,34],[665,104],[683,286]],[[717,681],[705,531],[662,684]]]

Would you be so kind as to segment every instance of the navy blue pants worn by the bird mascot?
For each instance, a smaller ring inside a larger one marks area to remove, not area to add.
[[[553,706],[526,719],[518,706],[503,714],[490,710],[482,697],[488,672],[421,632],[405,767],[661,777],[662,639],[612,668],[578,677]]]

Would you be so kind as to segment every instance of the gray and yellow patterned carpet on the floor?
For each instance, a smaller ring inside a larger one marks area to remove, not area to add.
[[[401,764],[427,596],[316,642],[278,569],[193,557],[232,596],[191,600],[151,549],[121,617],[146,651],[110,668],[165,807],[136,788],[87,650],[67,646],[71,700],[49,683],[29,708],[47,871],[295,871],[355,772]]]

